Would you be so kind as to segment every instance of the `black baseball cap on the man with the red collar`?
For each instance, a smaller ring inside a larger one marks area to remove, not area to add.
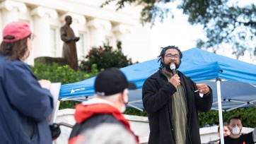
[[[114,95],[122,92],[125,88],[134,90],[136,85],[129,83],[124,73],[118,68],[107,68],[95,79],[95,93],[100,96]]]

